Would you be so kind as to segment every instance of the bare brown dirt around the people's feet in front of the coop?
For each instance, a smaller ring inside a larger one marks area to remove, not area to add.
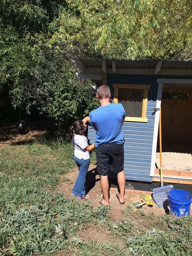
[[[65,178],[68,179],[67,182],[61,182],[59,186],[57,186],[56,191],[62,192],[69,198],[74,198],[71,196],[71,190],[74,186],[76,181],[76,177],[78,175],[78,168],[73,168],[70,172],[64,175]],[[100,188],[100,177],[96,172],[96,165],[90,164],[87,177],[86,177],[86,186],[88,187],[88,195],[90,195],[90,201],[94,207],[98,207],[99,200],[102,196],[101,188]],[[151,194],[151,192],[146,192],[147,194]],[[77,199],[81,200],[81,199]],[[122,220],[124,218],[123,212],[127,206],[131,206],[133,211],[136,211],[136,208],[132,206],[132,202],[140,200],[140,191],[138,190],[126,190],[125,193],[125,204],[120,204],[118,199],[116,198],[116,188],[110,189],[110,218],[112,220]],[[152,208],[147,207],[146,205],[143,206],[143,211],[145,214],[153,213],[155,216],[163,216],[165,215],[165,211],[162,208],[159,208],[155,203]]]

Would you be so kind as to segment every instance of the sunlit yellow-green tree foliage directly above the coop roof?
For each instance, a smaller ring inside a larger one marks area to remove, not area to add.
[[[52,43],[88,56],[191,57],[192,2],[68,0],[51,24]],[[182,53],[182,54],[181,54]]]

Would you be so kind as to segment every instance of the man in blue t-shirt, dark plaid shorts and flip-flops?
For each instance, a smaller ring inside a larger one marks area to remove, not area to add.
[[[83,121],[90,121],[96,130],[95,150],[97,159],[97,171],[100,174],[100,182],[103,198],[100,204],[109,204],[108,172],[117,174],[120,193],[116,193],[120,204],[124,204],[125,174],[124,166],[124,138],[122,123],[125,118],[125,110],[122,104],[110,103],[110,89],[108,86],[100,86],[97,90],[97,98],[101,106],[90,112],[89,117]]]

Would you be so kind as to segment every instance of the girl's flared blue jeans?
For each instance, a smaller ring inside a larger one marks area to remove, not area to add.
[[[89,168],[89,163],[90,159],[84,160],[77,158],[74,156],[74,161],[76,162],[78,169],[79,169],[79,174],[76,179],[75,185],[72,189],[72,194],[75,196],[79,197],[84,197],[85,196],[85,178],[86,178],[86,173]]]

